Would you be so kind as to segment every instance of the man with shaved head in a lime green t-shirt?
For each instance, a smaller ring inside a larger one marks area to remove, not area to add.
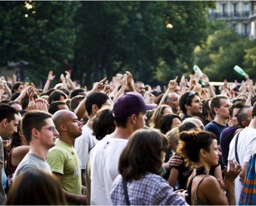
[[[53,115],[53,122],[59,132],[56,146],[50,149],[46,158],[52,173],[61,182],[69,205],[86,204],[86,188],[81,182],[81,163],[74,141],[82,134],[82,123],[69,110],[59,110]]]

